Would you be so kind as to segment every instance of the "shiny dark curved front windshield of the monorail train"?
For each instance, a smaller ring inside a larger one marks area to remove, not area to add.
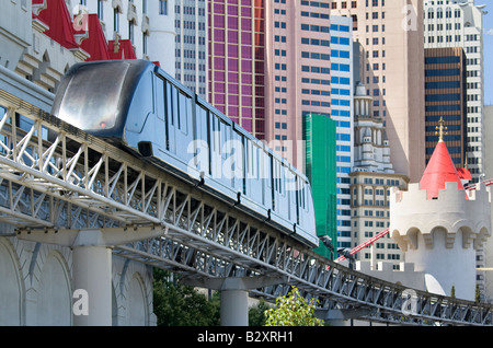
[[[112,128],[128,68],[126,62],[79,68],[67,85],[57,117],[83,130]]]

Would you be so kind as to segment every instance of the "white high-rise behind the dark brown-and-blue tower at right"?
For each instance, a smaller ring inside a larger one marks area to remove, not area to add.
[[[424,1],[425,48],[461,47],[467,76],[467,165],[472,179],[484,172],[483,8],[474,0]]]

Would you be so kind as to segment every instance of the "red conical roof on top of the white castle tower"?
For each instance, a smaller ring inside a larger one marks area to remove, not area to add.
[[[463,188],[447,147],[439,140],[423,173],[420,187],[427,190],[427,199],[433,199],[438,197],[439,189],[445,189],[445,183],[458,183],[459,189]]]

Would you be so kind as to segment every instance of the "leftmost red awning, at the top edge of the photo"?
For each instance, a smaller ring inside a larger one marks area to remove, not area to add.
[[[73,36],[72,19],[64,0],[47,1],[46,9],[39,12],[38,19],[49,26],[45,32],[47,36],[66,48],[79,48]]]

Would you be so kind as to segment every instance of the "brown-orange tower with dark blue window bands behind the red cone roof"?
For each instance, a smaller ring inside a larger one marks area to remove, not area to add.
[[[466,56],[461,47],[425,49],[426,163],[438,141],[440,120],[444,141],[456,167],[466,163],[467,101]]]

